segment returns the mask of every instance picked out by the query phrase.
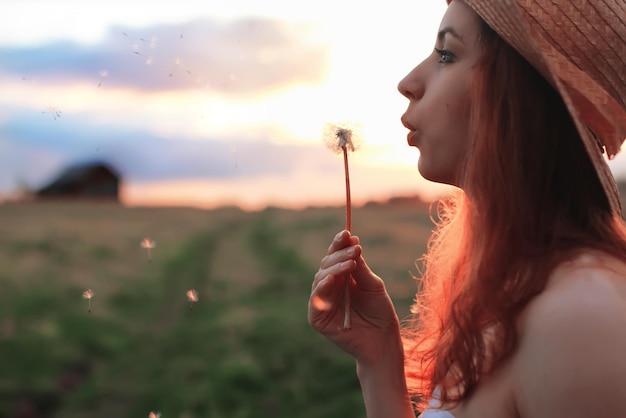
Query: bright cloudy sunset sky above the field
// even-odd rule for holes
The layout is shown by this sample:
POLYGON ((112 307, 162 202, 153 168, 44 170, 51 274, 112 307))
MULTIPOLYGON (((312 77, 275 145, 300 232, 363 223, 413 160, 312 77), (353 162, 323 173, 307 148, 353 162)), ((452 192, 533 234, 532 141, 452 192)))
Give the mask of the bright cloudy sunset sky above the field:
POLYGON ((356 204, 437 197, 448 189, 419 175, 396 86, 444 12, 443 0, 0 0, 0 196, 104 161, 128 205, 341 204, 343 160, 324 132, 347 124, 356 204))

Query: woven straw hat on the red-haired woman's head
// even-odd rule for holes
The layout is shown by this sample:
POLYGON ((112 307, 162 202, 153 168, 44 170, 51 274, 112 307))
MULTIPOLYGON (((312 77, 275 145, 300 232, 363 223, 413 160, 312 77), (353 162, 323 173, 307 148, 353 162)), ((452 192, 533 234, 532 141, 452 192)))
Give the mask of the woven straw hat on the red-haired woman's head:
POLYGON ((626 139, 626 1, 463 1, 559 91, 621 215, 602 154, 613 158, 626 139))

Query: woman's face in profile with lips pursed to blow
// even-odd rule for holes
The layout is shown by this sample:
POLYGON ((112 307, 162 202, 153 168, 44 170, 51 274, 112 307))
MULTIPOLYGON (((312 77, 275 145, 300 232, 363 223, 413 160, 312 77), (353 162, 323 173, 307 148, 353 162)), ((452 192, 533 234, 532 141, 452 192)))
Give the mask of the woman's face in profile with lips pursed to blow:
POLYGON ((482 53, 479 19, 465 3, 452 1, 433 52, 398 85, 409 99, 402 123, 410 131, 409 145, 420 151, 418 169, 438 183, 459 185, 468 143, 470 85, 482 53))

